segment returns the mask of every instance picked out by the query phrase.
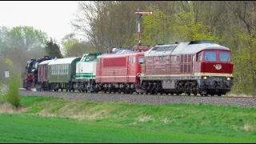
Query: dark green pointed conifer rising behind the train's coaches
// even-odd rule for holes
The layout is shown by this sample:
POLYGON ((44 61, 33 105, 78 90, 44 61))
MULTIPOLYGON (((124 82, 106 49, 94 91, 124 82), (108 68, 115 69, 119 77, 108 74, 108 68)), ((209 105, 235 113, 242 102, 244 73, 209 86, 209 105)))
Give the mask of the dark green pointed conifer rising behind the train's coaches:
POLYGON ((60 46, 58 46, 58 44, 54 42, 52 38, 50 38, 50 41, 46 42, 46 54, 50 58, 63 58, 60 46))

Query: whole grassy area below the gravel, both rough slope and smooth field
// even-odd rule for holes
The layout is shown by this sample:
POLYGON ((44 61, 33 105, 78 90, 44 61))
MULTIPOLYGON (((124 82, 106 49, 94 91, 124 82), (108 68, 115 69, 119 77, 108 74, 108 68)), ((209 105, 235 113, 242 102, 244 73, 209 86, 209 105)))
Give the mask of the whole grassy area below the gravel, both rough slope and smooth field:
POLYGON ((256 108, 22 97, 0 107, 0 142, 256 142, 256 108))

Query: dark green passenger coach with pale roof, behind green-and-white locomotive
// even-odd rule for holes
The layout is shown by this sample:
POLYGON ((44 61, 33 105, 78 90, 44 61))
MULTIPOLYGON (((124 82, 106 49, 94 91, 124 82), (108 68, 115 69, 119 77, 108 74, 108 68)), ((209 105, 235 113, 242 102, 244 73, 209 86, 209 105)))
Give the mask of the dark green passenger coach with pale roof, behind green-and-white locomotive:
POLYGON ((54 59, 48 63, 48 78, 51 90, 66 89, 74 91, 72 78, 75 76, 76 63, 81 58, 60 58, 54 59))

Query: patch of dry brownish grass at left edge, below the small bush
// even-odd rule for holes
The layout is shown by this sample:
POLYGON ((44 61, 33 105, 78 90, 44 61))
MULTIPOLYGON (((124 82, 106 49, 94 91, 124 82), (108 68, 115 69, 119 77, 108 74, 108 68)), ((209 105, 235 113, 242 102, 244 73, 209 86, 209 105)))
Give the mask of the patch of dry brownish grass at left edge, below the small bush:
POLYGON ((25 113, 27 111, 26 107, 18 107, 18 109, 12 108, 9 103, 0 103, 0 114, 14 114, 14 113, 25 113))

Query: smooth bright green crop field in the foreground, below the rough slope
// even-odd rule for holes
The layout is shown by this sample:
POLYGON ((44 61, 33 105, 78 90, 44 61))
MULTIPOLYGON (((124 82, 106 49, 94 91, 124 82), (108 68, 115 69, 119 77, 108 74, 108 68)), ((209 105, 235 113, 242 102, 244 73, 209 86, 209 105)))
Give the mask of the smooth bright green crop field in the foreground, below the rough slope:
POLYGON ((0 142, 255 142, 210 134, 182 134, 98 126, 77 119, 0 114, 0 142))

